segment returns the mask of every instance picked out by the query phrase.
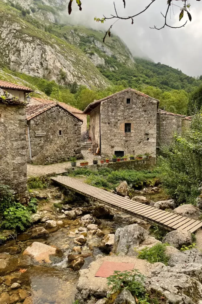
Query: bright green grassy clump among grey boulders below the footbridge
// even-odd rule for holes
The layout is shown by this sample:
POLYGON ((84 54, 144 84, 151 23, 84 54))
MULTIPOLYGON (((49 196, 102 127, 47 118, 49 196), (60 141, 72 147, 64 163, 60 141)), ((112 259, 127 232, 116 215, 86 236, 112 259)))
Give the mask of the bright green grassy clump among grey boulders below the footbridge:
POLYGON ((145 247, 138 253, 138 258, 142 260, 147 260, 150 263, 161 262, 167 265, 169 257, 165 254, 166 245, 158 243, 151 248, 145 247))

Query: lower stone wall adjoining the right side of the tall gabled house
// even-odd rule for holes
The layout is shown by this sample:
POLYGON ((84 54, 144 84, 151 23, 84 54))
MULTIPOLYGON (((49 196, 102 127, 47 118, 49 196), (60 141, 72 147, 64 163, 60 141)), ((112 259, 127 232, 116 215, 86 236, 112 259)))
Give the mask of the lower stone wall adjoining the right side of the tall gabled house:
MULTIPOLYGON (((161 113, 161 136, 160 147, 169 145, 172 142, 173 134, 182 132, 182 118, 177 115, 168 115, 161 113)), ((157 147, 159 147, 159 113, 157 113, 157 147)))

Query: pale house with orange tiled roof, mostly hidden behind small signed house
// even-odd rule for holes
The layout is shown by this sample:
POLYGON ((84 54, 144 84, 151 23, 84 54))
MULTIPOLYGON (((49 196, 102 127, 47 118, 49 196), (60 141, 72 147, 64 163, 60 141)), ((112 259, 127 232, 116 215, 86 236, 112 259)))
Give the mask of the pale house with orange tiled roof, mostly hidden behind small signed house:
MULTIPOLYGON (((37 105, 40 103, 53 103, 52 100, 48 99, 42 99, 42 98, 36 98, 32 97, 31 101, 29 102, 29 105, 37 105)), ((72 107, 71 105, 67 105, 65 102, 58 102, 59 105, 62 105, 65 109, 75 114, 78 118, 80 118, 83 123, 81 125, 81 133, 87 130, 87 115, 84 114, 81 110, 76 109, 72 107)))

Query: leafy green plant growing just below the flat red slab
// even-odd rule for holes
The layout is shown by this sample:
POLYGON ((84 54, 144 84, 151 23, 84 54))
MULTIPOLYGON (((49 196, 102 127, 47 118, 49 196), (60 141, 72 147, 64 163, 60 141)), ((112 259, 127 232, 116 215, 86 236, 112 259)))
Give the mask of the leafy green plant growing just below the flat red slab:
MULTIPOLYGON (((144 299, 146 290, 144 287, 145 276, 142 275, 138 269, 131 271, 114 271, 114 275, 107 278, 108 286, 112 285, 111 292, 129 290, 137 299, 144 299)), ((108 294, 109 296, 109 294, 108 294)))

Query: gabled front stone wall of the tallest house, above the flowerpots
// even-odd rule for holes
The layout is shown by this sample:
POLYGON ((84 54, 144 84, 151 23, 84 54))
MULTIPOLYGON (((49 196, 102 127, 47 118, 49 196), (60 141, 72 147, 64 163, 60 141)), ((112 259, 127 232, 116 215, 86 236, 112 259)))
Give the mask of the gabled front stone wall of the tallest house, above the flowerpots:
POLYGON ((150 153, 156 156, 156 115, 157 100, 122 92, 101 102, 101 154, 150 153), (126 104, 131 98, 131 104, 126 104), (131 123, 131 133, 124 132, 124 124, 131 123))

